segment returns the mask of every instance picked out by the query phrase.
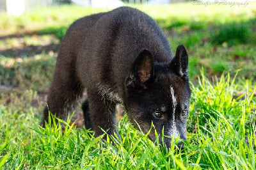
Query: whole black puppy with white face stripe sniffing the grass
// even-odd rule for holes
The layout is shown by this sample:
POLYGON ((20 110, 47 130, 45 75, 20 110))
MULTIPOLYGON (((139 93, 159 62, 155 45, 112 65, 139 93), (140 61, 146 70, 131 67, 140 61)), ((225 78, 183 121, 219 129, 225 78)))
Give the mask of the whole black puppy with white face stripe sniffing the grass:
MULTIPOLYGON (((143 132, 152 122, 158 134, 186 139, 191 90, 188 54, 183 45, 173 58, 157 23, 129 7, 77 20, 61 43, 47 98, 49 110, 65 119, 81 102, 86 128, 95 135, 115 132, 115 105, 125 106, 129 120, 143 132)), ((49 111, 45 107, 44 121, 49 111)), ((154 132, 150 139, 156 139, 154 132)), ((161 138, 161 137, 160 137, 161 138)), ((164 137, 166 146, 170 146, 164 137)))

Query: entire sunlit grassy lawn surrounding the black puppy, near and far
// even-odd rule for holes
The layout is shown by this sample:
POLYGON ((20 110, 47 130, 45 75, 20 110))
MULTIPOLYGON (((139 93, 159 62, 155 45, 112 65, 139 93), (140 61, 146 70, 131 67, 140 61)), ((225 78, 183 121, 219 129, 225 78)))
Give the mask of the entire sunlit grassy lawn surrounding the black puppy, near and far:
POLYGON ((120 138, 108 136, 115 144, 93 137, 83 120, 72 123, 81 111, 63 121, 64 133, 40 127, 65 31, 79 17, 108 11, 53 6, 0 14, 0 169, 256 169, 256 3, 134 7, 159 23, 173 50, 188 49, 184 150, 178 141, 172 148, 150 141, 126 115, 120 138))

